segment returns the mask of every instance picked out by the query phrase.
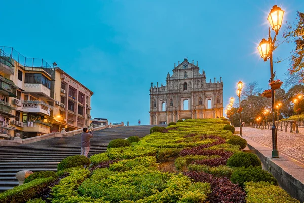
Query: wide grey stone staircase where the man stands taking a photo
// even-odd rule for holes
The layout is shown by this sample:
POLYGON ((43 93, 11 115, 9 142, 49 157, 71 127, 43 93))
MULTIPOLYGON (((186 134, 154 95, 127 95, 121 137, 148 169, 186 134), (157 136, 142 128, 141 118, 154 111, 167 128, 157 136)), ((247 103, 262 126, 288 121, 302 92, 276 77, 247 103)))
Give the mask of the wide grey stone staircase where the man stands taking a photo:
MULTIPOLYGON (((95 131, 88 157, 105 152, 111 140, 130 136, 144 137, 151 125, 123 126, 95 131)), ((0 192, 18 185, 18 171, 57 171, 57 164, 68 156, 80 154, 80 134, 53 138, 20 146, 0 146, 0 192)))

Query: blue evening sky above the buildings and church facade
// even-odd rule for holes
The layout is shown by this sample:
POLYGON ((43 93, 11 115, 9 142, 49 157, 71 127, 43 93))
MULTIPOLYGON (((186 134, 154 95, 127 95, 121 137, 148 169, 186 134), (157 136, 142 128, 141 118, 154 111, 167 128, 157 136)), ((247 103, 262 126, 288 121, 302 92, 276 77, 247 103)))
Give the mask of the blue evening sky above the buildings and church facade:
MULTIPOLYGON (((285 10, 284 22, 304 11, 302 0, 1 1, 0 45, 56 61, 94 92, 92 117, 149 124, 151 82, 165 84, 185 56, 198 61, 207 82, 222 77, 225 106, 239 80, 268 88, 269 61, 257 45, 268 35, 266 18, 276 4, 285 10)), ((279 46, 274 60, 288 57, 293 46, 279 46)), ((277 79, 287 69, 288 60, 274 63, 277 79)))

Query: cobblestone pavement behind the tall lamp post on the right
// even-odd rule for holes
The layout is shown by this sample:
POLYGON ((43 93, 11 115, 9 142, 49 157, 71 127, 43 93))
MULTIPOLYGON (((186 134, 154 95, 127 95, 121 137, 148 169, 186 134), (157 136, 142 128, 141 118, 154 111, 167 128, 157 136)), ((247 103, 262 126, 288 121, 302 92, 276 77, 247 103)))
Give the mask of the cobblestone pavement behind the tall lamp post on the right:
MULTIPOLYGON (((236 128, 236 131, 239 131, 239 128, 236 128)), ((279 153, 283 152, 304 163, 304 128, 299 128, 299 131, 298 134, 289 131, 277 131, 278 150, 279 153)), ((242 135, 272 148, 271 130, 242 127, 242 135)))

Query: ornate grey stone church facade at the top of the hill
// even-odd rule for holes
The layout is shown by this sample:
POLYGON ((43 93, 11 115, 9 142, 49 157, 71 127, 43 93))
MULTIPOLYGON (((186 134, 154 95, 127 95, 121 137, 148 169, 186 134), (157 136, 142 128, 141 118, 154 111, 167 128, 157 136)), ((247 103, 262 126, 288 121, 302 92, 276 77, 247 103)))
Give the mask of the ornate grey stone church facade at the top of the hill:
MULTIPOLYGON (((179 62, 178 62, 179 63, 179 62)), ((150 125, 168 124, 187 118, 217 118, 223 116, 223 81, 206 82, 204 70, 199 73, 187 58, 168 73, 166 85, 150 88, 150 125)))

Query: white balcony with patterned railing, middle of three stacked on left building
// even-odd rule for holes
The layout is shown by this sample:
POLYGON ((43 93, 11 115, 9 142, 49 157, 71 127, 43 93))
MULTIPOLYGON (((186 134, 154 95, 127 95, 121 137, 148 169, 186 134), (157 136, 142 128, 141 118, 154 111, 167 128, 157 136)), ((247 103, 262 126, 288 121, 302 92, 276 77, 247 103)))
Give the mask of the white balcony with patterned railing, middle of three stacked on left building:
POLYGON ((50 116, 50 111, 53 106, 44 103, 43 101, 22 101, 22 111, 37 113, 50 116))

